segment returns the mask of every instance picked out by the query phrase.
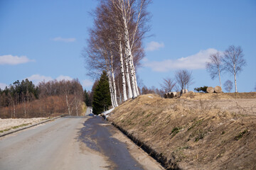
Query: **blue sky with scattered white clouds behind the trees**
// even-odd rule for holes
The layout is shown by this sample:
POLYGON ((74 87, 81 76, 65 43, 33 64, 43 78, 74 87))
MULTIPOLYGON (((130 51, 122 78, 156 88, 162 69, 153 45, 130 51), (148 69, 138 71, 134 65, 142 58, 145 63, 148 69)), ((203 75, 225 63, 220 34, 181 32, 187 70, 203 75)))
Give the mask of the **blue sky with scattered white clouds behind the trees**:
MULTIPOLYGON (((0 88, 16 80, 35 84, 45 79, 78 78, 90 90, 81 56, 96 0, 0 1, 0 88)), ((153 1, 153 35, 144 39, 146 56, 137 70, 139 84, 159 88, 162 79, 174 78, 178 69, 193 72, 193 90, 217 86, 205 62, 213 52, 240 45, 247 66, 238 74, 238 91, 256 86, 256 1, 153 1)), ((221 76, 222 83, 233 77, 221 76)), ((234 90, 234 88, 233 88, 234 90)))

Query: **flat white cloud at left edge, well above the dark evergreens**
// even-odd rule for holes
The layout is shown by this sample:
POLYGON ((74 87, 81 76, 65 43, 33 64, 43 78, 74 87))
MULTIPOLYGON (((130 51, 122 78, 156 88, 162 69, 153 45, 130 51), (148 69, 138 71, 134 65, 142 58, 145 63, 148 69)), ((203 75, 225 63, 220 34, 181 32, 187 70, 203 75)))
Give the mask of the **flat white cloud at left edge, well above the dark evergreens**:
POLYGON ((16 65, 16 64, 23 64, 26 62, 35 62, 35 60, 29 60, 26 56, 13 56, 13 55, 2 55, 0 56, 0 64, 10 64, 10 65, 16 65))

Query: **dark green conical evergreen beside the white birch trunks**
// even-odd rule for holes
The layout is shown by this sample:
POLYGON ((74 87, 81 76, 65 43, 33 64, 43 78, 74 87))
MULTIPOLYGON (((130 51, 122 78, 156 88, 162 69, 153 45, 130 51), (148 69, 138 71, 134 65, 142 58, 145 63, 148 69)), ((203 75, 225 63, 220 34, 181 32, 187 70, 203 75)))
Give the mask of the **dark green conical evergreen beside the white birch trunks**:
POLYGON ((92 111, 98 115, 103 111, 107 111, 111 106, 110 86, 108 83, 107 72, 103 71, 100 77, 99 84, 96 86, 93 93, 92 111))

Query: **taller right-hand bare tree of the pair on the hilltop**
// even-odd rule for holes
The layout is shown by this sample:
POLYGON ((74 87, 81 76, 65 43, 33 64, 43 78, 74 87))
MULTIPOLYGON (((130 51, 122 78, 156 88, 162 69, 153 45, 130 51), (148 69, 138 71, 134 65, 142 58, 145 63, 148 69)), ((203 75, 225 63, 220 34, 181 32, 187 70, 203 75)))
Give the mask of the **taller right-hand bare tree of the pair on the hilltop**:
POLYGON ((235 92, 238 92, 236 76, 242 71, 242 67, 246 65, 244 55, 242 54, 242 48, 240 46, 235 47, 230 45, 224 52, 224 67, 227 72, 233 74, 235 80, 235 92))

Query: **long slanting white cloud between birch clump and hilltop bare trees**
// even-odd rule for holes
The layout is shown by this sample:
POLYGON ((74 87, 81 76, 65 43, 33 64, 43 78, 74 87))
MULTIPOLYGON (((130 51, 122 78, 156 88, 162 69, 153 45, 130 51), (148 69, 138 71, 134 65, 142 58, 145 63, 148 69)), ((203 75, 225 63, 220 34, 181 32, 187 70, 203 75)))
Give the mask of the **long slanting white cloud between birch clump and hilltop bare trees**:
POLYGON ((196 55, 181 57, 177 60, 164 60, 161 62, 144 62, 145 67, 150 67, 156 72, 168 72, 174 69, 205 69, 209 56, 218 52, 213 48, 201 50, 196 55))

